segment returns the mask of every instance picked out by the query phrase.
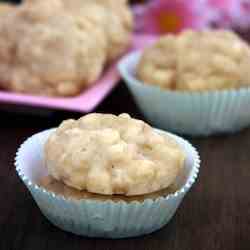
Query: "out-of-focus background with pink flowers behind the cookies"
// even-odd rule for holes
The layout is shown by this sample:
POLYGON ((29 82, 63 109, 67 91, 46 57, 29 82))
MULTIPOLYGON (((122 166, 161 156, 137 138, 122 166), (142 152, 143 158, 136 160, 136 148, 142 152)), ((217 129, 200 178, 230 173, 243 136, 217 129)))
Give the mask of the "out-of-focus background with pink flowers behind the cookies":
MULTIPOLYGON (((20 3, 21 0, 0 0, 20 3)), ((250 0, 130 0, 138 33, 232 29, 249 40, 250 0)))

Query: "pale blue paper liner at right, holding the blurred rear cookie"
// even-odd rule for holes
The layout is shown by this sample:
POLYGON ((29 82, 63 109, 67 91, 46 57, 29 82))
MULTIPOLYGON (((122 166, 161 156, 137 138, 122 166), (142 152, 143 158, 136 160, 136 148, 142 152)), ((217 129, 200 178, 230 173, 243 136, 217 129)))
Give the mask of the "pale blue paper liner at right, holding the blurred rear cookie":
POLYGON ((137 105, 154 126, 205 136, 235 132, 250 125, 250 88, 205 92, 161 89, 135 78, 140 56, 141 52, 133 52, 124 57, 119 71, 137 105))

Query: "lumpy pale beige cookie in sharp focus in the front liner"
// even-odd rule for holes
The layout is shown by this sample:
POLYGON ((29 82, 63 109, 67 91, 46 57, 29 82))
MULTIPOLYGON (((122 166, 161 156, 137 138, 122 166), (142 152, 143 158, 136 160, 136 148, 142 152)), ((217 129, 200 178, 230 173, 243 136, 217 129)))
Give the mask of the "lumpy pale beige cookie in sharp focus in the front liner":
POLYGON ((64 121, 45 145, 49 175, 78 190, 125 196, 169 187, 184 164, 170 137, 127 114, 64 121))

